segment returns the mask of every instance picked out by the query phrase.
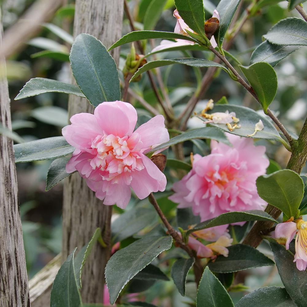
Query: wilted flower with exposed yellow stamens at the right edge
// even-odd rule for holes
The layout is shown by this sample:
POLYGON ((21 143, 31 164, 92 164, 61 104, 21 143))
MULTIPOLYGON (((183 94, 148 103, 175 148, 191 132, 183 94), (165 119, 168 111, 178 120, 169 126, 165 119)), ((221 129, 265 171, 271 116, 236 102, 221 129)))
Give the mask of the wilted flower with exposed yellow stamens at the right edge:
POLYGON ((305 271, 307 266, 307 223, 303 220, 295 222, 284 222, 275 227, 275 239, 278 243, 286 245, 289 249, 289 243, 295 238, 295 255, 293 262, 300 271, 305 271))

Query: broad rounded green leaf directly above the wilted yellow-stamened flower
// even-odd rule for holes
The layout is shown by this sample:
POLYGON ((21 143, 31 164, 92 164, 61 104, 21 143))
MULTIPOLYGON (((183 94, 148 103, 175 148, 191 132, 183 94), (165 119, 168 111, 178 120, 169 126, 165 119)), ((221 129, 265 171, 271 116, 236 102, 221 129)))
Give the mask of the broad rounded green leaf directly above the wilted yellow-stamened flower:
POLYGON ((282 210, 289 218, 295 216, 304 195, 302 178, 290 169, 281 169, 256 180, 259 196, 282 210))

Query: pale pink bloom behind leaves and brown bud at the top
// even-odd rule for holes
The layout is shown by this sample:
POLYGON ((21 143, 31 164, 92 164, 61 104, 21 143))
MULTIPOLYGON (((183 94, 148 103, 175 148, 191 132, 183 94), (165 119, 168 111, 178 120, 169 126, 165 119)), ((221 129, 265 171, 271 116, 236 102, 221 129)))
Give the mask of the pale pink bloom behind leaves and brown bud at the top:
MULTIPOLYGON (((186 32, 186 30, 190 31, 190 32, 194 32, 186 23, 185 21, 181 18, 181 16, 179 15, 177 10, 174 10, 174 17, 177 18, 177 23, 174 29, 174 33, 178 33, 178 34, 182 34, 185 36, 188 36, 188 33, 186 32)), ((220 20, 220 15, 217 12, 217 10, 214 10, 212 17, 216 17, 217 19, 220 20)), ((216 41, 214 36, 211 37, 210 39, 210 43, 212 45, 213 48, 217 47, 216 41)), ((193 41, 187 41, 187 40, 183 40, 183 39, 178 39, 175 43, 169 40, 162 40, 160 45, 158 45, 157 47, 153 48, 151 50, 151 52, 156 52, 156 51, 160 51, 163 49, 167 49, 167 48, 173 48, 173 47, 179 47, 179 46, 185 46, 185 45, 194 45, 195 43, 193 41)))

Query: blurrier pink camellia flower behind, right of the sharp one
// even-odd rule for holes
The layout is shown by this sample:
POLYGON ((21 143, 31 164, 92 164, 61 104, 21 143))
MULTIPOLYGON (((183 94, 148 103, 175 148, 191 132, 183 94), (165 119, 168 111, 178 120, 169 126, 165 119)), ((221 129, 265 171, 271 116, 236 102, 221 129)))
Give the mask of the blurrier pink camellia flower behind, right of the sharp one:
POLYGON ((262 210, 266 202, 257 193, 256 179, 266 173, 266 148, 253 139, 228 134, 233 147, 211 141, 211 154, 194 155, 192 170, 173 185, 169 199, 178 208, 192 207, 201 222, 232 211, 262 210))

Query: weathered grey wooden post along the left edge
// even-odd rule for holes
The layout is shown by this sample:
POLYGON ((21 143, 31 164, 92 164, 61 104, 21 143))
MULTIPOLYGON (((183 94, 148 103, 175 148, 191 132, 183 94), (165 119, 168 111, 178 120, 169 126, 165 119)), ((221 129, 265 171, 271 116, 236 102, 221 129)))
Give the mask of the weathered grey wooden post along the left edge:
MULTIPOLYGON (((3 27, 0 8, 0 49, 3 27)), ((9 89, 0 58, 0 121, 11 129, 9 89)), ((25 250, 18 209, 13 141, 0 135, 0 306, 30 307, 25 250)))

